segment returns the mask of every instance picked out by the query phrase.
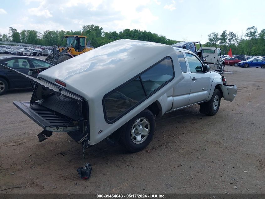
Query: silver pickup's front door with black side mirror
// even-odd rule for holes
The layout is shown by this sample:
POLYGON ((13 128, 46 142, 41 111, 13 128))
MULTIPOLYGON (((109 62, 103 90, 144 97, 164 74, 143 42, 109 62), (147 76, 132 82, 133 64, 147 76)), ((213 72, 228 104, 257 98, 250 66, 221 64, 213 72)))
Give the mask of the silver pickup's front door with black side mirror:
POLYGON ((203 72, 203 63, 195 55, 186 52, 191 77, 190 100, 188 104, 205 101, 210 92, 209 72, 203 72))

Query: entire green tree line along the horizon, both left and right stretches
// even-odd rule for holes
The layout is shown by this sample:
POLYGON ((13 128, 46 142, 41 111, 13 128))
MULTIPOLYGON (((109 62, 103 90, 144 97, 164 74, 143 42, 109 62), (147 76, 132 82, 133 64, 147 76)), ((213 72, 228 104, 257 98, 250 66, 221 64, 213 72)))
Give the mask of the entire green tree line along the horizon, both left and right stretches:
MULTIPOLYGON (((18 43, 37 44, 43 46, 60 45, 66 46, 66 40, 62 41, 65 35, 84 35, 91 41, 93 47, 99 47, 118 39, 135 39, 141 41, 152 41, 172 45, 178 41, 167 39, 166 36, 151 33, 150 31, 124 29, 119 33, 116 31, 105 32, 98 25, 83 25, 82 30, 46 30, 43 33, 36 30, 21 30, 9 27, 9 34, 0 33, 0 41, 13 41, 18 43)), ((236 34, 224 30, 219 33, 212 32, 203 47, 220 47, 225 54, 232 49, 233 54, 265 55, 265 29, 259 33, 255 26, 248 27, 246 33, 236 34)))

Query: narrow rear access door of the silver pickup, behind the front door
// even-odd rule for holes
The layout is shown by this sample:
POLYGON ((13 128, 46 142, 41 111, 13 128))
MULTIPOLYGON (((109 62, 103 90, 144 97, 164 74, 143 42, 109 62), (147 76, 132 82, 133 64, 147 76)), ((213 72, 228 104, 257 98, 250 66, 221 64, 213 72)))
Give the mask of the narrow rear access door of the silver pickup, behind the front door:
POLYGON ((178 56, 178 61, 182 70, 182 74, 185 77, 184 80, 179 82, 176 86, 173 87, 173 107, 172 109, 184 107, 188 105, 189 94, 191 87, 190 74, 187 69, 187 64, 185 57, 181 51, 176 51, 178 56))

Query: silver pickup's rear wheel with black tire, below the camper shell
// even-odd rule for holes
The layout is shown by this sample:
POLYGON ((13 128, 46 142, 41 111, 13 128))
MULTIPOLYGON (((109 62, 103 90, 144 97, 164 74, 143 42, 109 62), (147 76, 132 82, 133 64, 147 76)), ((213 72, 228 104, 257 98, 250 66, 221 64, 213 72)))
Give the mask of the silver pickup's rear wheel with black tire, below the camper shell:
POLYGON ((155 126, 156 121, 153 113, 145 109, 125 124, 121 142, 129 152, 141 151, 150 143, 155 126))

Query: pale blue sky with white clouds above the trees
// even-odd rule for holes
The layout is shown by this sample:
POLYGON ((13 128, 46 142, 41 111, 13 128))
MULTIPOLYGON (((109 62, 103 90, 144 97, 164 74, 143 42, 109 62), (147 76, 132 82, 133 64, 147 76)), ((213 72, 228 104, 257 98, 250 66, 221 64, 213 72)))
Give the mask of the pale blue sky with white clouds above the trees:
POLYGON ((151 31, 177 41, 205 43, 211 32, 244 34, 265 28, 264 0, 1 0, 0 33, 82 30, 99 25, 105 32, 126 28, 151 31))

